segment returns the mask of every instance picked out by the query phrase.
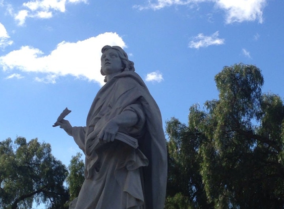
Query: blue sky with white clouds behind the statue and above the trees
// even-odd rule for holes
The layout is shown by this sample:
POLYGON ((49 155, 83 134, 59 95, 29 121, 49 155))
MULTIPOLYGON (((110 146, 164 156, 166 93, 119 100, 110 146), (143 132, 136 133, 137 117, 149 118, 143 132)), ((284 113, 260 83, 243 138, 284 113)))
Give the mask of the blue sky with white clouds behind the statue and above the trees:
POLYGON ((52 125, 84 126, 102 85, 101 48, 134 61, 163 121, 218 99, 224 66, 254 64, 284 96, 283 0, 0 0, 0 141, 38 138, 68 165, 79 152, 52 125))

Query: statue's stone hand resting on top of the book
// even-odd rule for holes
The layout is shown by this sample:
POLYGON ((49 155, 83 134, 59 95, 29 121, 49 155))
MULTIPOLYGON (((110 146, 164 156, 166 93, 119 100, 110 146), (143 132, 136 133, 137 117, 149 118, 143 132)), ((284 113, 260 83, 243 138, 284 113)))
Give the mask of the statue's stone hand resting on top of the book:
POLYGON ((113 142, 115 134, 118 132, 118 128, 118 124, 114 120, 110 120, 99 134, 100 142, 113 142))

